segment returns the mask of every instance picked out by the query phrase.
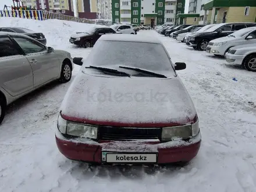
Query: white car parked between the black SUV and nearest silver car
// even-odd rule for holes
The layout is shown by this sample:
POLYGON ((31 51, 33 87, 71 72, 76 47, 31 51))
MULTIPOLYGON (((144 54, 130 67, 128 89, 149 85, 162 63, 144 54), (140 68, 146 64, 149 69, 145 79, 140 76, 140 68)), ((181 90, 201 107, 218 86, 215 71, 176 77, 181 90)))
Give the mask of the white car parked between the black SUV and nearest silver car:
POLYGON ((206 52, 223 56, 231 47, 253 43, 256 43, 256 27, 248 27, 210 41, 206 52))

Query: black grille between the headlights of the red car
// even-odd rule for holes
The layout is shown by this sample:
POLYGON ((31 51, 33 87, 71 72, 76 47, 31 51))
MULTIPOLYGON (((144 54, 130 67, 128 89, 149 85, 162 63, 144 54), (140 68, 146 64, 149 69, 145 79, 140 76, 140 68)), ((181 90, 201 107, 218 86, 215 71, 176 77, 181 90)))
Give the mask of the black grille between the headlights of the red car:
POLYGON ((99 126, 99 140, 160 139, 161 133, 161 128, 99 126))

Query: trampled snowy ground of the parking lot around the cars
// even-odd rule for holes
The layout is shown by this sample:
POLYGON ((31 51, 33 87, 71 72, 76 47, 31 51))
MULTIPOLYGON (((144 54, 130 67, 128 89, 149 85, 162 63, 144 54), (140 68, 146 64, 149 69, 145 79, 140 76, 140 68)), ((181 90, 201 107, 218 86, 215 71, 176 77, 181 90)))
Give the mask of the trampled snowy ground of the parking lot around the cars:
MULTIPOLYGON (((72 56, 86 57, 91 50, 68 42, 70 34, 87 24, 1 18, 0 23, 42 31, 48 46, 72 56)), ((54 132, 70 83, 52 83, 8 108, 0 126, 0 191, 256 191, 256 108, 248 103, 256 104, 255 73, 155 31, 138 35, 159 38, 173 62, 187 63, 178 73, 197 108, 202 133, 200 152, 190 165, 88 168, 66 159, 56 147, 54 132)), ((78 70, 77 66, 73 78, 78 70)))

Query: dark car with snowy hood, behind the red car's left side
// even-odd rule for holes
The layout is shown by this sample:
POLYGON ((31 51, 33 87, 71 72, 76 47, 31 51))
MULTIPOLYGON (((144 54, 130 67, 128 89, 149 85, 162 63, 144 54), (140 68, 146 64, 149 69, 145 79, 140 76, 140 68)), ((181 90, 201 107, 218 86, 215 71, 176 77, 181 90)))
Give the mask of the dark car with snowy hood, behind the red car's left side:
POLYGON ((88 31, 77 32, 76 34, 71 35, 69 42, 74 45, 79 45, 81 47, 93 47, 95 42, 104 34, 120 34, 113 30, 111 27, 93 27, 88 31))

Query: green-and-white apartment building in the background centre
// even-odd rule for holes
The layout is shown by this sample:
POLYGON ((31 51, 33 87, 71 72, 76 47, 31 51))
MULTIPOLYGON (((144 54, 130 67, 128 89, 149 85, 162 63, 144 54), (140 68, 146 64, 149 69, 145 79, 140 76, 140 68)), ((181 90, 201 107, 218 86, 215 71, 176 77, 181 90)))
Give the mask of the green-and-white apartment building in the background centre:
POLYGON ((172 24, 184 8, 185 0, 112 0, 112 23, 172 24))

